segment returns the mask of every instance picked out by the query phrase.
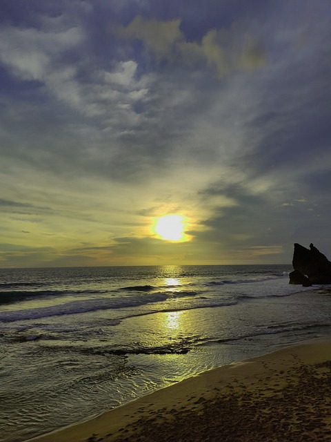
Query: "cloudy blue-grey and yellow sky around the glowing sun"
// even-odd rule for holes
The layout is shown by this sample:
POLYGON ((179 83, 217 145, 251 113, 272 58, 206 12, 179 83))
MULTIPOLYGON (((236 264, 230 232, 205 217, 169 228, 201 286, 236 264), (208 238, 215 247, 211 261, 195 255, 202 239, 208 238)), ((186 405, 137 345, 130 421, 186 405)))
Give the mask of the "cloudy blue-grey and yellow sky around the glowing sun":
POLYGON ((330 0, 1 0, 0 267, 331 259, 330 19, 330 0))

